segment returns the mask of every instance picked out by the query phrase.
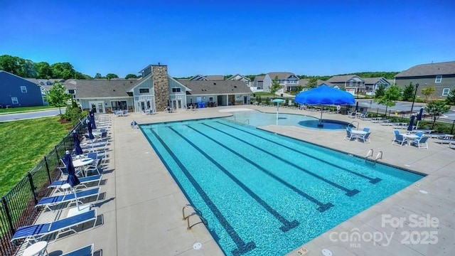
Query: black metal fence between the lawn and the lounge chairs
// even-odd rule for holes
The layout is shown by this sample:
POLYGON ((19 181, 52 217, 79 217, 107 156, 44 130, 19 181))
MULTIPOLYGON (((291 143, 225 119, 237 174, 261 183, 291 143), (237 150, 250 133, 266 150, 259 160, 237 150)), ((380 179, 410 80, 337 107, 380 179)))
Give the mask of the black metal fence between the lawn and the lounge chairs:
MULTIPOLYGON (((85 121, 85 119, 84 119, 85 121)), ((85 122, 75 127, 78 134, 85 132, 85 122)), ((0 255, 14 255, 16 244, 10 242, 17 228, 31 225, 39 214, 35 208, 39 199, 49 196, 49 184, 59 178, 59 159, 66 150, 73 149, 73 130, 54 147, 39 163, 23 176, 21 181, 1 197, 0 203, 0 255)))

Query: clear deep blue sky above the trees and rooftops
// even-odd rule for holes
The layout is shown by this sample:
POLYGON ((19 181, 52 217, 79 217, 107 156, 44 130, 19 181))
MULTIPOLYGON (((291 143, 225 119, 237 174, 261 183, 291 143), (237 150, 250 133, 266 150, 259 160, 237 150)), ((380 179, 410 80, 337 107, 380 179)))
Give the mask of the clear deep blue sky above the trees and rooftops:
POLYGON ((119 77, 338 75, 455 60, 455 1, 2 1, 0 55, 119 77))

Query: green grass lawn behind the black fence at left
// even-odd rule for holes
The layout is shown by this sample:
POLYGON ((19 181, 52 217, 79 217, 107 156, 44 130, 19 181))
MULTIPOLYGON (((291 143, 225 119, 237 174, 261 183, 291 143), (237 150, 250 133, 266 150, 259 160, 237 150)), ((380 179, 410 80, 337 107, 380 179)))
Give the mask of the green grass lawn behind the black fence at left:
POLYGON ((72 124, 59 120, 45 117, 0 123, 1 196, 70 132, 72 124))

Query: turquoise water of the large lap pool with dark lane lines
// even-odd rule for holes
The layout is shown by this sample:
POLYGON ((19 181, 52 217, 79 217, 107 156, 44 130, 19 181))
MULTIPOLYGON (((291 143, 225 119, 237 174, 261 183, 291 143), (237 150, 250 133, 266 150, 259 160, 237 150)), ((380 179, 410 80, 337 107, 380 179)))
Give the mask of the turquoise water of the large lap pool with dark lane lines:
POLYGON ((284 255, 422 178, 226 119, 141 130, 226 255, 284 255))

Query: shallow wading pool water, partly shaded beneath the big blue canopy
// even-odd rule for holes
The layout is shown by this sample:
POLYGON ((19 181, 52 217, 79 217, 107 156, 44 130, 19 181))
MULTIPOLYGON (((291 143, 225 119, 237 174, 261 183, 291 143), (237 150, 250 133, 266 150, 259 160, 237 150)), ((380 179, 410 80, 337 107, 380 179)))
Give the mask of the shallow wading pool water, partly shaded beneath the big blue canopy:
POLYGON ((319 119, 303 114, 285 114, 285 113, 262 113, 254 110, 232 112, 232 117, 227 119, 242 124, 250 124, 254 127, 278 124, 282 126, 296 126, 310 129, 346 129, 348 122, 342 122, 331 119, 323 119, 323 127, 319 127, 319 119), (277 119, 278 116, 278 119, 277 119))

